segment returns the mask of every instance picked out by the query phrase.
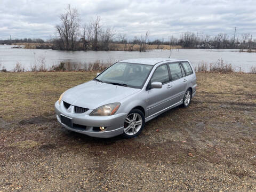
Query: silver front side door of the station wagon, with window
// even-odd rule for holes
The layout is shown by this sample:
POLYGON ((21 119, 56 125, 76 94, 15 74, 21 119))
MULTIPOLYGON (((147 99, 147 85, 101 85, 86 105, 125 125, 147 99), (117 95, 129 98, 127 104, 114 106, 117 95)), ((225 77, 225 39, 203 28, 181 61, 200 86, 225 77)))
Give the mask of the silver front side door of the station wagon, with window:
POLYGON ((149 82, 149 101, 148 101, 148 115, 153 115, 158 111, 169 106, 170 94, 170 76, 166 64, 156 68, 149 82), (151 82, 161 82, 163 84, 161 89, 150 89, 151 82))

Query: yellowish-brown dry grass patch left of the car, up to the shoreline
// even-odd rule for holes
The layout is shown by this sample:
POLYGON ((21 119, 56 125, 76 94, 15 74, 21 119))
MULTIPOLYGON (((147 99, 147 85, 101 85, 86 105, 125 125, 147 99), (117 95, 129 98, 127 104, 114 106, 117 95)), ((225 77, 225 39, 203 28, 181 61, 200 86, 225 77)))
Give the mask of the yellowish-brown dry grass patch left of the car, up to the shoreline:
POLYGON ((16 117, 17 120, 26 116, 51 114, 53 103, 58 100, 60 92, 89 81, 94 76, 95 72, 15 73, 15 75, 3 73, 0 76, 0 114, 5 119, 16 117))

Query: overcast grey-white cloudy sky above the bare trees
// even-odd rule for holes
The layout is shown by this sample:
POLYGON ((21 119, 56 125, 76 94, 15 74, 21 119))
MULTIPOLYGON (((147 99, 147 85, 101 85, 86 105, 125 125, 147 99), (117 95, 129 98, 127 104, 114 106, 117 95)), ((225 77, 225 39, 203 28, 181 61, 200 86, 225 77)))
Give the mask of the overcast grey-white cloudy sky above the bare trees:
POLYGON ((103 26, 133 38, 149 31, 150 39, 179 37, 186 31, 238 35, 256 38, 255 0, 0 0, 0 39, 43 38, 55 34, 59 13, 70 4, 82 23, 99 14, 103 26))

